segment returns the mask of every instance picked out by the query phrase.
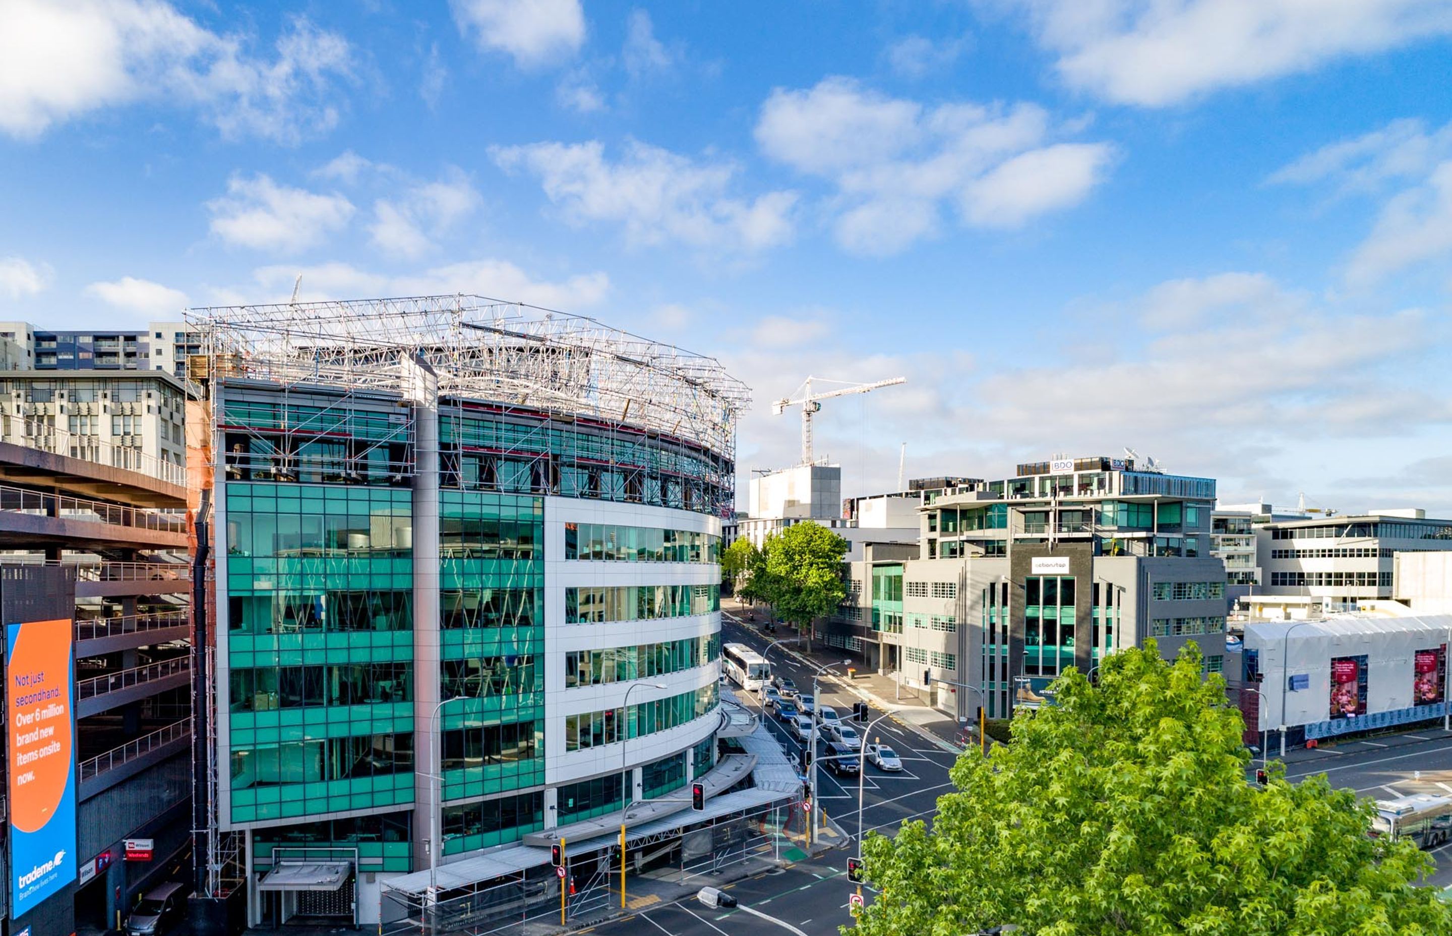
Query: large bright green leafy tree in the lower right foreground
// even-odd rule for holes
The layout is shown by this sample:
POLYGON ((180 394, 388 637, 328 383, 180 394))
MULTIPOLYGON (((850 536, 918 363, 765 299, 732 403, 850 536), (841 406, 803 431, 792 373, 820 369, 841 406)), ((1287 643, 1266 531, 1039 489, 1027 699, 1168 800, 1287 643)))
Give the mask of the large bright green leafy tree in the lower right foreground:
POLYGON ((858 935, 1452 933, 1452 907, 1414 885, 1430 859, 1369 837, 1355 794, 1279 769, 1246 782, 1240 712, 1194 645, 1170 664, 1147 641, 1099 673, 1090 687, 1070 670, 1009 747, 964 754, 932 831, 867 840, 880 894, 858 935))

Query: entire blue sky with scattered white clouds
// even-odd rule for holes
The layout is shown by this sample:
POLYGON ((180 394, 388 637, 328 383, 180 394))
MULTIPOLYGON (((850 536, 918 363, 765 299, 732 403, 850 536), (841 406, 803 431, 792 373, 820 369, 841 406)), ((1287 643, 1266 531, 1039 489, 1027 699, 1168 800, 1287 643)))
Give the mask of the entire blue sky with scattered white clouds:
POLYGON ((0 318, 479 292, 807 374, 849 493, 1452 513, 1449 0, 0 0, 0 318))

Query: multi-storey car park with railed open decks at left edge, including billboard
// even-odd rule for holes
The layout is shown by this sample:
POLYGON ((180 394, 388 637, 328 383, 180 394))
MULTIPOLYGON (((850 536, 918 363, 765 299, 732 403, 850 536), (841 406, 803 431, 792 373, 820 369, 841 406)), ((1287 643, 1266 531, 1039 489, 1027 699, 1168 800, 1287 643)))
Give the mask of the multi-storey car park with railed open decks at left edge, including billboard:
POLYGON ((39 413, 3 400, 7 932, 105 930, 190 844, 184 472, 12 432, 39 413))

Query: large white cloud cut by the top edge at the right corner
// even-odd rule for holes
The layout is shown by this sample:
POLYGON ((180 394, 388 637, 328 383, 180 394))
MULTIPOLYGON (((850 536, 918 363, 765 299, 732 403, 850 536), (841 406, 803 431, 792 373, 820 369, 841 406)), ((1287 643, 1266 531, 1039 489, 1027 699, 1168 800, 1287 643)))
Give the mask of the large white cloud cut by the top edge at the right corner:
POLYGON ((1446 0, 1000 0, 1072 87, 1147 108, 1452 32, 1446 0))

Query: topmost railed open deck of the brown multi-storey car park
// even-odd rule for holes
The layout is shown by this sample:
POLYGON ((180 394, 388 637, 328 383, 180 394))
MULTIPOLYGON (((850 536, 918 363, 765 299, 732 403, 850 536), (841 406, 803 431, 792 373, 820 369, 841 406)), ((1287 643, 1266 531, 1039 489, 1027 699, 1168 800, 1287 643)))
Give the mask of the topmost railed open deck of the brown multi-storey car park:
POLYGON ((0 485, 0 545, 187 548, 186 516, 0 485))

